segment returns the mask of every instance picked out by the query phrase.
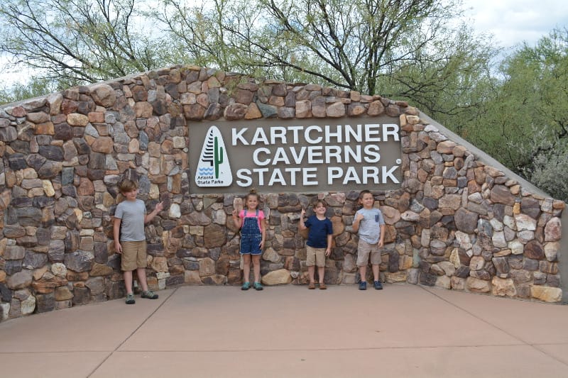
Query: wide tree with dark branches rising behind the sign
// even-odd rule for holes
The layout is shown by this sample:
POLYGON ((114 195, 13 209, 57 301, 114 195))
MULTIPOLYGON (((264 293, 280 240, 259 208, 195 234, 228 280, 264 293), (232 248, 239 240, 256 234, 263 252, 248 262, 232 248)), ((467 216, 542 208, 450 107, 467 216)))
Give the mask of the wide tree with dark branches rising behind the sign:
POLYGON ((472 106, 436 105, 466 93, 470 80, 487 74, 496 52, 455 23, 459 0, 162 4, 155 17, 178 43, 174 50, 197 64, 408 99, 426 111, 472 106))

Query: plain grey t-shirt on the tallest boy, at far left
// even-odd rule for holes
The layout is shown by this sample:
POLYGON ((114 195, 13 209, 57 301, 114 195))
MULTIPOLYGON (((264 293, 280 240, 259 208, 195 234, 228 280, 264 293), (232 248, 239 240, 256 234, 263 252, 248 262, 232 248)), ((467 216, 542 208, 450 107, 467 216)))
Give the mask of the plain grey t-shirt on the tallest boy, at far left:
POLYGON ((144 234, 144 216, 146 205, 140 199, 122 201, 116 206, 114 216, 121 219, 120 241, 139 242, 146 240, 144 234))

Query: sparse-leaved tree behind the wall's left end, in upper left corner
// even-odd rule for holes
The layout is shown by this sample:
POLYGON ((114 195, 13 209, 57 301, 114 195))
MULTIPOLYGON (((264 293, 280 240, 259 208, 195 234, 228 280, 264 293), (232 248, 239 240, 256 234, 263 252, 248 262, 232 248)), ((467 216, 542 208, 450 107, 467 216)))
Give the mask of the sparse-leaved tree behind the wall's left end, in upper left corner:
POLYGON ((69 86, 167 65, 141 17, 135 0, 4 0, 0 52, 69 86))

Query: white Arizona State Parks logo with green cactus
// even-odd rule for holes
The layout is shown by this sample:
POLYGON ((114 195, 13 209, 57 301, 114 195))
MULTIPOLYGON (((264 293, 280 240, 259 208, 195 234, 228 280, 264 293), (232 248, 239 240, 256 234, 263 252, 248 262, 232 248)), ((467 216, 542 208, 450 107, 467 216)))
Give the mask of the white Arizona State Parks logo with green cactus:
POLYGON ((217 126, 211 126, 203 141, 195 184, 198 187, 229 187, 232 183, 233 174, 223 136, 217 126))

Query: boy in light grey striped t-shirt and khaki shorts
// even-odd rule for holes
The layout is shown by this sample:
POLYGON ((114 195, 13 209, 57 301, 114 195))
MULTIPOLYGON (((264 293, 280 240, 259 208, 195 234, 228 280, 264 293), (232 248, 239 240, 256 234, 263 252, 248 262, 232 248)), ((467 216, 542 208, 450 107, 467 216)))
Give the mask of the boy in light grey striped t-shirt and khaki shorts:
POLYGON ((359 193, 359 204, 363 207, 355 213, 353 221, 353 232, 359 233, 359 244, 357 245, 357 266, 359 267, 359 290, 367 289, 367 265, 371 257, 371 267, 373 268, 373 287, 377 290, 383 289, 379 281, 378 265, 381 264, 381 248, 385 240, 385 221, 381 210, 375 209, 375 199, 371 191, 363 190, 359 193))

